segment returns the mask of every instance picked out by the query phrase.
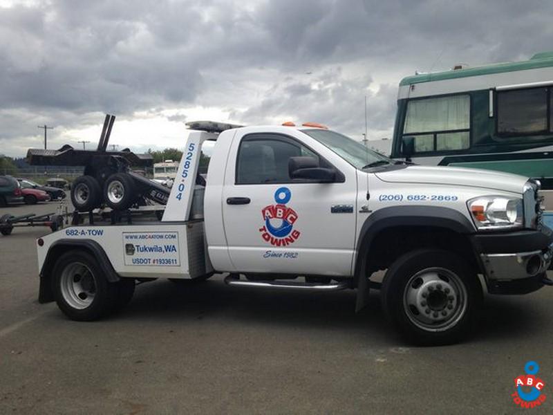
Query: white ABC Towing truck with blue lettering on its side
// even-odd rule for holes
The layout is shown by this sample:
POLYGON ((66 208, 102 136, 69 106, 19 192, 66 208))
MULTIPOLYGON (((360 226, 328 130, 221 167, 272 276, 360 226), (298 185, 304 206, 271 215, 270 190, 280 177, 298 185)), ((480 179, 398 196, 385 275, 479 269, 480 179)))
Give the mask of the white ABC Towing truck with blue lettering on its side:
POLYGON ((443 344, 474 329, 483 293, 552 284, 536 181, 394 161, 320 124, 205 125, 189 134, 161 221, 90 214, 37 240, 40 302, 96 320, 135 282, 225 273, 229 286, 356 288, 359 309, 374 287, 408 340, 443 344))

